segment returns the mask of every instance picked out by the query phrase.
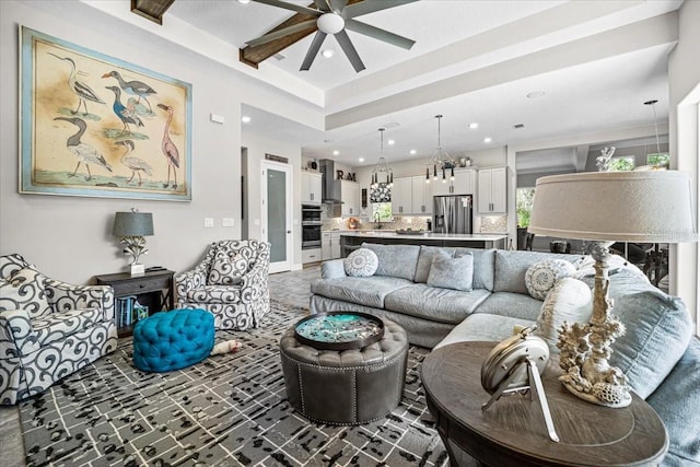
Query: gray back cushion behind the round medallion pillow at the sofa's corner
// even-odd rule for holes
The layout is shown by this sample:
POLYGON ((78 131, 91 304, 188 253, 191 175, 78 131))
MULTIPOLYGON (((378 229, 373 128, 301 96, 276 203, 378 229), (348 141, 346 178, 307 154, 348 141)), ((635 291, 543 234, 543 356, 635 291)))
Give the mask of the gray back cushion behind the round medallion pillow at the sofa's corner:
POLYGON ((526 294, 525 273, 527 272, 527 268, 537 261, 558 258, 572 262, 580 257, 576 255, 560 255, 556 253, 508 252, 497 249, 493 291, 526 294))

